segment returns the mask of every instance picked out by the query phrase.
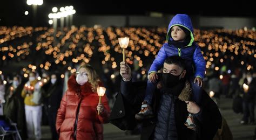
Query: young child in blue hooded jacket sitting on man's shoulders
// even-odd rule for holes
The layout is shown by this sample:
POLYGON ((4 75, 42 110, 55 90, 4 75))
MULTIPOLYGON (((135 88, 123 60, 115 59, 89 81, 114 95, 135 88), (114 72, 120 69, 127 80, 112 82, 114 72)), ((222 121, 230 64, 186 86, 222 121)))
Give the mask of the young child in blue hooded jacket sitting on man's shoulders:
MULTIPOLYGON (((156 90, 156 87, 173 90, 172 85, 177 84, 173 83, 168 87, 161 86, 163 85, 161 84, 163 76, 159 76, 159 74, 157 74, 157 71, 163 67, 165 59, 175 55, 185 59, 187 78, 190 80, 190 85, 192 87, 192 101, 196 102, 200 106, 202 92, 201 87, 203 86, 206 62, 203 58, 200 47, 194 43, 193 26, 188 15, 177 14, 172 18, 168 27, 166 40, 167 43, 160 48, 156 59, 154 59, 153 64, 150 67, 148 75, 149 80, 147 81, 146 94, 142 103, 142 109, 135 115, 137 120, 143 120, 154 116, 151 104, 152 95, 156 90)), ((174 71, 165 72, 165 69, 163 71, 164 73, 170 73, 171 76, 177 75, 174 71)), ((174 82, 174 80, 172 81, 174 82)), ((190 125, 190 118, 192 117, 193 114, 190 114, 185 125, 190 125)), ((189 127, 194 129, 194 127, 189 127)))

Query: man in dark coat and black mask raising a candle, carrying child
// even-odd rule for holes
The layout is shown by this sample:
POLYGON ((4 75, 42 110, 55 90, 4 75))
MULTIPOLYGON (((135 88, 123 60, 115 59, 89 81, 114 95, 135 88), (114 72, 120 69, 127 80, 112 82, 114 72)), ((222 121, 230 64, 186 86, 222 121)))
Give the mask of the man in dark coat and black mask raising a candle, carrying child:
MULTIPOLYGON (((164 64, 164 73, 160 75, 163 85, 159 86, 160 90, 157 89, 153 96, 156 117, 143 120, 141 139, 212 139, 218 128, 221 128, 222 117, 217 105, 206 92, 202 94, 201 107, 190 102, 190 84, 183 79, 186 72, 183 65, 180 65, 180 61, 183 60, 179 57, 167 59, 169 60, 164 64), (169 80, 175 79, 171 78, 172 75, 168 75, 169 73, 173 77, 178 75, 177 84, 172 87, 167 87, 169 80), (195 116, 193 121, 197 126, 196 130, 184 124, 188 113, 195 116)), ((120 74, 123 77, 121 92, 117 95, 110 122, 122 130, 131 130, 139 122, 129 116, 133 116, 140 109, 146 83, 133 83, 130 67, 124 62, 121 62, 120 67, 120 74)))

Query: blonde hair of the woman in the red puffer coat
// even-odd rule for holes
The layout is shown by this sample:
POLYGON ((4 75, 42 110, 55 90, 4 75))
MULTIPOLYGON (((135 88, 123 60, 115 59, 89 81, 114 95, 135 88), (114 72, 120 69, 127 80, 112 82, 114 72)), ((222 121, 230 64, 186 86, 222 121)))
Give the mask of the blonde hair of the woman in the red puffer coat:
POLYGON ((95 69, 94 69, 91 65, 89 65, 89 64, 81 65, 81 66, 78 68, 78 71, 79 71, 81 68, 85 68, 85 69, 86 69, 87 74, 88 74, 88 82, 90 82, 91 85, 92 85, 92 91, 93 91, 93 92, 97 92, 97 87, 98 87, 98 84, 99 84, 99 82, 100 82, 99 76, 98 76, 97 72, 96 72, 95 69))

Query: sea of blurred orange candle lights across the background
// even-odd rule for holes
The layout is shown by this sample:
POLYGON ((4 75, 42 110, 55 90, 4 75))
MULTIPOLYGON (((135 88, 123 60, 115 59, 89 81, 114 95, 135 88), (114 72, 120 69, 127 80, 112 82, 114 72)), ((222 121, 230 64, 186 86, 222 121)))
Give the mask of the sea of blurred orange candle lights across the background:
MULTIPOLYGON (((122 61, 122 48, 118 43, 119 37, 129 37, 129 46, 126 48, 128 64, 133 60, 138 61, 141 73, 146 74, 146 69, 151 65, 160 47, 166 43, 167 29, 163 27, 71 27, 58 31, 53 37, 53 29, 47 27, 0 27, 0 52, 3 61, 8 59, 23 60, 30 55, 31 50, 37 51, 38 56, 44 56, 41 64, 29 64, 24 66, 23 72, 35 71, 43 68, 48 71, 52 65, 66 66, 71 73, 76 72, 72 64, 80 62, 89 63, 93 57, 99 57, 100 62, 111 64, 117 68, 122 61), (34 32, 42 31, 36 36, 36 44, 32 41, 24 41, 22 44, 14 43, 22 37, 35 36, 34 32), (8 45, 7 45, 8 44, 8 45), (94 54, 98 51, 97 55, 94 54)), ((255 62, 255 31, 248 29, 240 30, 194 30, 194 39, 201 47, 206 68, 219 71, 221 64, 226 60, 243 65, 248 71, 253 69, 255 62), (214 65, 213 65, 214 64, 214 65)), ((28 60, 26 60, 28 61, 28 60)), ((28 76, 25 75, 24 76, 28 76)), ((63 76, 64 77, 64 76, 63 76)))

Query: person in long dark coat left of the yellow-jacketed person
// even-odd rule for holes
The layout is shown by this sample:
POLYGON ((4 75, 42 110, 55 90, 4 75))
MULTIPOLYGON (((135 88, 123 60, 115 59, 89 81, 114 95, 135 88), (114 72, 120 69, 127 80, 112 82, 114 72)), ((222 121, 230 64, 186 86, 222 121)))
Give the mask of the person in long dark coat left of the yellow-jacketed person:
POLYGON ((3 104, 3 114, 17 124, 22 139, 26 139, 25 107, 21 92, 24 86, 18 76, 14 76, 12 84, 8 87, 3 104))

